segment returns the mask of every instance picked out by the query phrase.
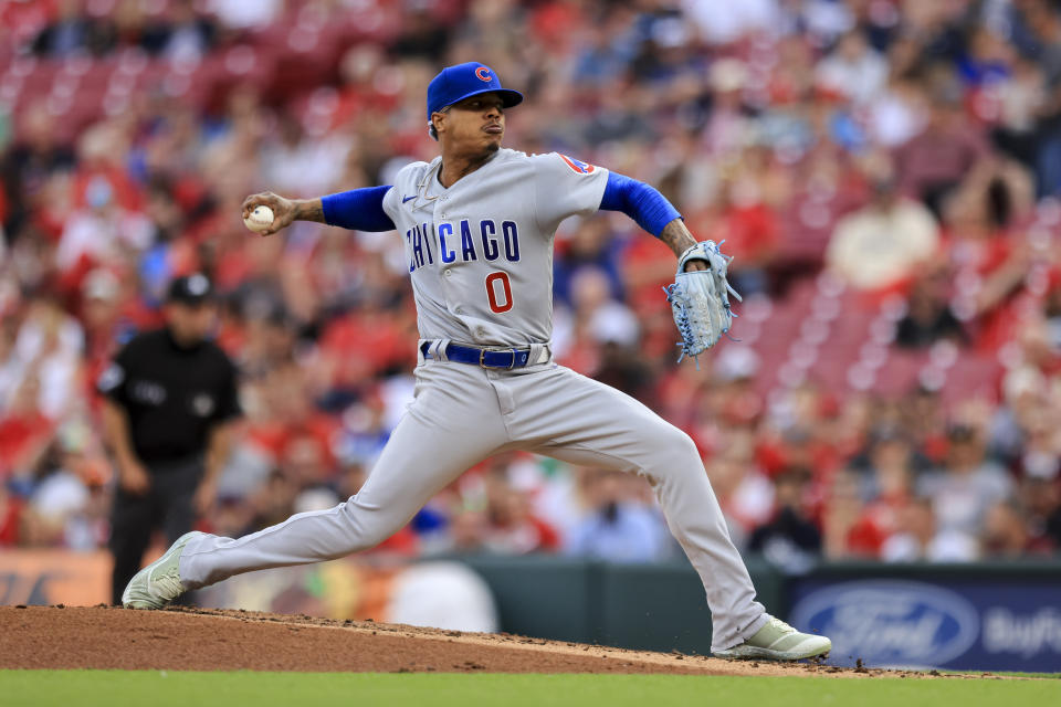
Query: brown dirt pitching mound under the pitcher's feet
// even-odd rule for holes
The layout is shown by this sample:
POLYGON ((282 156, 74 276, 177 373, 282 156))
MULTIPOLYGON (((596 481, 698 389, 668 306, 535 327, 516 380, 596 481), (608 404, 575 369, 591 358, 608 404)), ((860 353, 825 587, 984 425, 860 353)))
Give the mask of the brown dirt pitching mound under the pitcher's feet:
POLYGON ((895 675, 514 635, 174 608, 0 606, 0 668, 895 675))

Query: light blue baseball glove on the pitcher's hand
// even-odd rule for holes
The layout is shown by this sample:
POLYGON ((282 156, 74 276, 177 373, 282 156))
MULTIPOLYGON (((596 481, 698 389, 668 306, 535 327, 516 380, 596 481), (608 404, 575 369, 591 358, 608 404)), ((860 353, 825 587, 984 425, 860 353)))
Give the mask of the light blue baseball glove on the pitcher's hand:
MULTIPOLYGON (((671 303, 674 324, 682 335, 677 344, 682 347, 679 362, 686 356, 696 358, 717 344, 737 316, 729 309, 729 295, 738 300, 740 295, 726 282, 726 268, 733 256, 723 254, 719 245, 714 241, 701 241, 682 253, 677 258, 674 284, 663 288, 671 303), (707 270, 686 273, 685 264, 693 260, 707 263, 707 270)), ((696 366, 700 367, 700 359, 696 366)))

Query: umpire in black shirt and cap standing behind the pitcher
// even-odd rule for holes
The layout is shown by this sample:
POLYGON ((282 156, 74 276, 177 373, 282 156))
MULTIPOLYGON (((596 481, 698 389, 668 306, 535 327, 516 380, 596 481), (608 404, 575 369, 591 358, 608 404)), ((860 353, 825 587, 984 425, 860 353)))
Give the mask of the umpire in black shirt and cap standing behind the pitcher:
POLYGON ((129 341, 97 382, 104 436, 118 467, 111 518, 115 604, 155 528, 174 542, 210 507, 240 413, 235 367, 207 340, 216 317, 210 281, 174 279, 164 312, 166 326, 129 341))

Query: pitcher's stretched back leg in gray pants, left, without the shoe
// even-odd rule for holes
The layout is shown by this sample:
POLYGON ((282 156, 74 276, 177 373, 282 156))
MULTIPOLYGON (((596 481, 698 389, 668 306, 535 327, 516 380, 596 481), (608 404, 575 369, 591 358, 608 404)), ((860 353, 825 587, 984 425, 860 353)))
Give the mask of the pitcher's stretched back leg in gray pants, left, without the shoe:
POLYGON ((180 557, 185 588, 340 558, 398 531, 431 496, 507 441, 487 386, 455 391, 455 382, 440 384, 444 387, 418 395, 357 495, 242 538, 208 535, 190 541, 180 557))

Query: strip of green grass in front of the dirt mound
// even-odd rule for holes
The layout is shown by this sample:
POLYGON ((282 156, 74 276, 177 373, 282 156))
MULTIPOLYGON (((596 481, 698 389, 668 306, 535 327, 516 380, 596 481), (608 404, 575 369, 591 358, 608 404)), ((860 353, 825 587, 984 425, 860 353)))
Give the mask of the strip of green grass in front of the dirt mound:
POLYGON ((0 705, 94 707, 307 707, 309 705, 721 705, 915 707, 1061 704, 1058 680, 683 675, 379 675, 365 673, 175 673, 0 671, 0 705))

